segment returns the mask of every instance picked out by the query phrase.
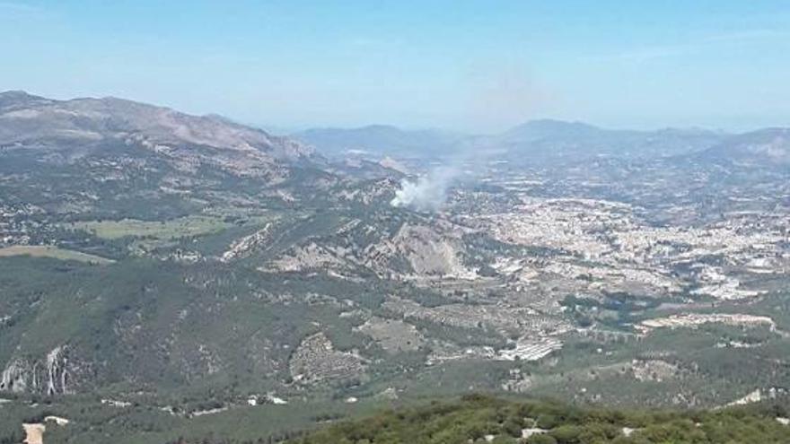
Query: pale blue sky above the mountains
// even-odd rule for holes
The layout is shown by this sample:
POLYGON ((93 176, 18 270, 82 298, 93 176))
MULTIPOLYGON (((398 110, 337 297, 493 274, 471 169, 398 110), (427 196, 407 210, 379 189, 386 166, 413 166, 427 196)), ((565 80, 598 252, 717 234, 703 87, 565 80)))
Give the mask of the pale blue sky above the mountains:
POLYGON ((0 90, 261 126, 790 126, 790 2, 0 0, 0 90))

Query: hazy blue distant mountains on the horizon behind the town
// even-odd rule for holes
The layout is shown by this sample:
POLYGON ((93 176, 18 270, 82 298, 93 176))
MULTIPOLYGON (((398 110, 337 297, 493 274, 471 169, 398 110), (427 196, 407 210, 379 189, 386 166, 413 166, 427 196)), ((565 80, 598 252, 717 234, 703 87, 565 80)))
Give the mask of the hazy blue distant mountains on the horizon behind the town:
POLYGON ((719 161, 784 162, 786 129, 730 135, 699 128, 654 131, 606 129, 582 122, 532 120, 497 135, 463 135, 437 129, 410 131, 395 126, 310 129, 292 135, 329 157, 348 153, 373 157, 452 157, 460 152, 491 152, 512 161, 563 162, 585 158, 667 158, 699 153, 719 161), (705 154, 702 154, 705 153, 705 154))

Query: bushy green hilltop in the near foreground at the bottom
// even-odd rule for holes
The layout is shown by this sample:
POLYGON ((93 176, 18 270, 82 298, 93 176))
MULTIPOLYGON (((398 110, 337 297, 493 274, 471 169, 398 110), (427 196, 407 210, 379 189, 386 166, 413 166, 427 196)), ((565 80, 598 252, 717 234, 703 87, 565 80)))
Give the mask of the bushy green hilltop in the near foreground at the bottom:
POLYGON ((338 422, 294 444, 751 444, 790 442, 785 407, 639 411, 464 396, 338 422))

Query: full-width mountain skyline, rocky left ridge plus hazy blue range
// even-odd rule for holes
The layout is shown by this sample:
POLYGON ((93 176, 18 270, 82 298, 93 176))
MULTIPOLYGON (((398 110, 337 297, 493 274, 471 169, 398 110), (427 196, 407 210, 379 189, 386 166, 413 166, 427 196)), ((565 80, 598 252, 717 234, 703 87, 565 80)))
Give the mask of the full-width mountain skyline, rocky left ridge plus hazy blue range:
MULTIPOLYGON (((315 128, 288 137, 220 116, 190 116, 173 109, 116 98, 51 100, 24 91, 0 93, 0 149, 36 148, 48 161, 125 150, 154 154, 171 168, 200 168, 276 183, 300 166, 323 169, 330 159, 446 159, 474 153, 516 163, 561 164, 613 157, 670 158, 741 164, 790 163, 790 130, 767 128, 741 135, 705 129, 615 130, 582 122, 532 120, 497 135, 465 135, 396 126, 315 128)), ((147 155, 146 154, 146 155, 147 155)), ((372 164, 373 165, 373 164, 372 164)))

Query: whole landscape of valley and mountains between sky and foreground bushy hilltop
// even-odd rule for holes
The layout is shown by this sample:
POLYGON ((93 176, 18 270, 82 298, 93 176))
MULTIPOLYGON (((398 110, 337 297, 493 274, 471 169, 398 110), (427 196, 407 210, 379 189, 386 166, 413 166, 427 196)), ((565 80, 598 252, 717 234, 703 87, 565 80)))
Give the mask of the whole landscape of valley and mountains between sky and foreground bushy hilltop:
POLYGON ((0 94, 0 442, 54 415, 48 444, 273 441, 478 392, 786 400, 786 132, 579 125, 384 159, 0 94), (396 200, 418 178, 438 201, 396 200))

